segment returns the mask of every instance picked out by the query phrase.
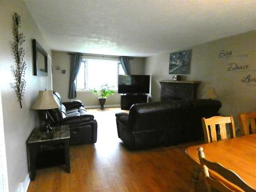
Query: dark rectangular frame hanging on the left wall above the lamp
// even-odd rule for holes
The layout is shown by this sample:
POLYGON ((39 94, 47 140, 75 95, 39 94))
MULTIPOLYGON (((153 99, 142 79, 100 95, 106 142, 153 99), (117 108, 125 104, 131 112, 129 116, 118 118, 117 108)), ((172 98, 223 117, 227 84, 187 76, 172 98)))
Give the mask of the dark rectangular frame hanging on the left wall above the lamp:
POLYGON ((35 76, 47 76, 48 75, 48 54, 47 52, 40 46, 40 44, 36 41, 36 39, 32 40, 33 47, 33 75, 35 76), (38 56, 44 57, 44 60, 41 62, 38 60, 38 56), (40 69, 41 67, 41 69, 40 69))

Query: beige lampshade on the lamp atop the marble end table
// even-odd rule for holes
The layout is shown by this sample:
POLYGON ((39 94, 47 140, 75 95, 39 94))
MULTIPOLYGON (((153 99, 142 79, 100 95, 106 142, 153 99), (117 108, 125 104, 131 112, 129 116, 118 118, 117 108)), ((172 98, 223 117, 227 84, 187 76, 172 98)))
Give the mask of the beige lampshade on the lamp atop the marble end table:
POLYGON ((55 108, 59 108, 59 104, 55 101, 52 90, 39 91, 38 96, 32 105, 32 109, 49 110, 55 108))

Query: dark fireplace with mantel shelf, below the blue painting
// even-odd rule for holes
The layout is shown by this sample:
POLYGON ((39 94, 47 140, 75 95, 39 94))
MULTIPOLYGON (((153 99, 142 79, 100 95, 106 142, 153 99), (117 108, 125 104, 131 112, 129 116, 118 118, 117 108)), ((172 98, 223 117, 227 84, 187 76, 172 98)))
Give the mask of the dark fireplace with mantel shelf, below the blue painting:
POLYGON ((200 81, 163 80, 161 85, 161 101, 176 99, 193 100, 197 98, 197 87, 200 81))

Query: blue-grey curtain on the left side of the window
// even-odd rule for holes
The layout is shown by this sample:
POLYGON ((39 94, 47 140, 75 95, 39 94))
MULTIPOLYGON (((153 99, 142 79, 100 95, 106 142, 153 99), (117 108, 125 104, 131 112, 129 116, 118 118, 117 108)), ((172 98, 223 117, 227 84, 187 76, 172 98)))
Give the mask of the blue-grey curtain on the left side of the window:
POLYGON ((69 80, 69 98, 76 98, 76 85, 75 80, 78 75, 81 62, 82 62, 82 54, 75 53, 71 55, 70 62, 70 80, 69 80))

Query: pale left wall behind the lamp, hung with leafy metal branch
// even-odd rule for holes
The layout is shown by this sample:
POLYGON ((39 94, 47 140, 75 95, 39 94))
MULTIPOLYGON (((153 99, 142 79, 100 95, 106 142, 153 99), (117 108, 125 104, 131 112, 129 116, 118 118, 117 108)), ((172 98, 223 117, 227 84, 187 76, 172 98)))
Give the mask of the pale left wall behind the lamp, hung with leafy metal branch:
POLYGON ((34 19, 29 13, 24 1, 0 1, 0 77, 3 103, 3 119, 6 141, 7 170, 9 191, 16 191, 20 183, 28 175, 26 140, 32 129, 38 126, 37 112, 30 109, 39 90, 48 89, 48 78, 33 76, 32 62, 32 39, 35 38, 39 44, 51 54, 46 40, 39 31, 34 19), (14 12, 21 16, 20 32, 25 35, 26 42, 25 61, 27 70, 25 75, 26 88, 22 100, 23 109, 19 102, 12 83, 14 77, 11 72, 14 66, 12 52, 13 19, 14 12))

